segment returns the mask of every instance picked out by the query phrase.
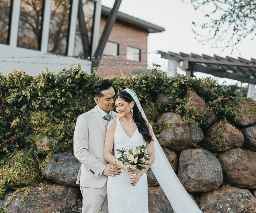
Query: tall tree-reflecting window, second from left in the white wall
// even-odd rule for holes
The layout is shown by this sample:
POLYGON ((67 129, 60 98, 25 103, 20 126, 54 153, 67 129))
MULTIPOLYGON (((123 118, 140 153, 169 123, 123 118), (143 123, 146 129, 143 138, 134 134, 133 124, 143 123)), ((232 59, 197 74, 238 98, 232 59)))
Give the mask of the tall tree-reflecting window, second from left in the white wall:
POLYGON ((21 0, 17 46, 40 49, 43 0, 21 0))

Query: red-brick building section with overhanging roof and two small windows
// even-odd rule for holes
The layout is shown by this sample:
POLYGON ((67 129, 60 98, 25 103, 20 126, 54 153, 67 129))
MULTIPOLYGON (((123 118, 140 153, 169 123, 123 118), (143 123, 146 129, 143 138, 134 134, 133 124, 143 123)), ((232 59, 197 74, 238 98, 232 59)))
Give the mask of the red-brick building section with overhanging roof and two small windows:
MULTIPOLYGON (((110 10, 102 6, 100 36, 110 10)), ((163 30, 162 27, 119 12, 97 67, 99 76, 146 70, 147 36, 149 33, 159 33, 163 30)))

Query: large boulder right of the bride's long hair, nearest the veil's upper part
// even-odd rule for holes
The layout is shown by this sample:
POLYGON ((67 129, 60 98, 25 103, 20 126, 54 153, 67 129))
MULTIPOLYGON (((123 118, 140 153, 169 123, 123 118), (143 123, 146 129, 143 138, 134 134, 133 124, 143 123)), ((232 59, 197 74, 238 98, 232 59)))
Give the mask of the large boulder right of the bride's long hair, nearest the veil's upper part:
MULTIPOLYGON (((184 125, 182 116, 177 113, 167 112, 162 116, 166 129, 161 130, 158 138, 161 146, 182 151, 203 140, 203 131, 194 119, 190 118, 191 124, 184 125)), ((158 119, 157 122, 161 123, 162 119, 158 119)))

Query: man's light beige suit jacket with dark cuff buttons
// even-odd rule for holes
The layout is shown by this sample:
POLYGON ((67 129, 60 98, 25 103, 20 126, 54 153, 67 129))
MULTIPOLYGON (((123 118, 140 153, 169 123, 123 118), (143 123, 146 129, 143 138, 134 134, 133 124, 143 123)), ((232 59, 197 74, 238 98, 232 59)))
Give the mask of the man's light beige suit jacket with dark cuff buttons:
MULTIPOLYGON (((111 111, 112 119, 119 117, 111 111)), ((106 129, 97 107, 78 116, 74 132, 74 155, 82 163, 77 183, 82 187, 102 188, 107 176, 98 175, 107 165, 104 159, 106 129)))

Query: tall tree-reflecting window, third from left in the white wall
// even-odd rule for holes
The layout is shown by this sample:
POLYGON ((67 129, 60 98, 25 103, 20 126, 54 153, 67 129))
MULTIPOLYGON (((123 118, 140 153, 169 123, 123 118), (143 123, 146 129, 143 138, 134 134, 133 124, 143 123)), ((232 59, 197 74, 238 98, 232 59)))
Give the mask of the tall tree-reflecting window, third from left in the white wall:
POLYGON ((70 26, 70 0, 52 1, 48 52, 66 55, 70 26))

